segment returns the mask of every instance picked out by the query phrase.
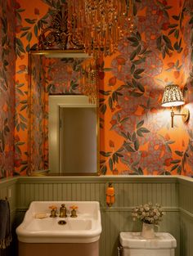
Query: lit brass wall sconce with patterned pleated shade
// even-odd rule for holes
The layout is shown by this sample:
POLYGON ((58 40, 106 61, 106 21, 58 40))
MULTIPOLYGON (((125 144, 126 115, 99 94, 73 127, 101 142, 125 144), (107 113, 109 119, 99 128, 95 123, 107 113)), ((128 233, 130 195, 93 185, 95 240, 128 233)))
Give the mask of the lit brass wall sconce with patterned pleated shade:
POLYGON ((182 114, 174 113, 174 106, 182 106, 184 105, 184 98, 182 92, 177 84, 167 85, 164 89, 164 96, 162 99, 162 106, 164 107, 172 107, 171 117, 172 117, 172 128, 173 128, 173 117, 174 115, 182 115, 182 120, 186 123, 190 117, 190 111, 188 109, 183 109, 182 114))

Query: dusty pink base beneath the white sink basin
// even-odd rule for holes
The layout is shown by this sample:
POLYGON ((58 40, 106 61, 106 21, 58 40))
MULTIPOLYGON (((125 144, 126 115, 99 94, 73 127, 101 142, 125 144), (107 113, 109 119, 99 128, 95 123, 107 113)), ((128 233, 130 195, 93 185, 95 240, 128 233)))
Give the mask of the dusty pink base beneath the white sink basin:
POLYGON ((89 244, 38 244, 38 243, 22 243, 19 241, 19 256, 98 256, 99 241, 89 244))

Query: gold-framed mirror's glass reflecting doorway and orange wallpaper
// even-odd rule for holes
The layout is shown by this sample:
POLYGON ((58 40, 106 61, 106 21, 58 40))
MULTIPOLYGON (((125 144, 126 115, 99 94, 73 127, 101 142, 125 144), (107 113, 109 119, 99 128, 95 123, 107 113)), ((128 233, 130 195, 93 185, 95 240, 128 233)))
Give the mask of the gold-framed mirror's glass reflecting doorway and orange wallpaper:
POLYGON ((32 175, 98 174, 98 111, 81 89, 87 61, 81 51, 29 54, 32 175))

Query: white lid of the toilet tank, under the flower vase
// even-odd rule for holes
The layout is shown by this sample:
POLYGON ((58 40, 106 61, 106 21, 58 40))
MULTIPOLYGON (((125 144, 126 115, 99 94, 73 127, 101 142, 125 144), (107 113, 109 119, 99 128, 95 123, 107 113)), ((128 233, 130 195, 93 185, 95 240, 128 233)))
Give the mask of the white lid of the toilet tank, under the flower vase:
POLYGON ((119 241, 123 247, 141 249, 171 249, 177 247, 176 239, 169 233, 157 232, 154 238, 146 239, 140 232, 121 232, 119 241))

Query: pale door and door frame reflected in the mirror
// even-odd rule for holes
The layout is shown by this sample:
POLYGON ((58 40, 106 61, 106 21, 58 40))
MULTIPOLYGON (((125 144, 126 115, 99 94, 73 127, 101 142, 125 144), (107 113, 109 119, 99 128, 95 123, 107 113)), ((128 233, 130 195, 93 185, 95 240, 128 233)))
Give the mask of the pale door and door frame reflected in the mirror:
POLYGON ((52 173, 96 173, 96 105, 80 95, 50 96, 48 113, 52 173))

